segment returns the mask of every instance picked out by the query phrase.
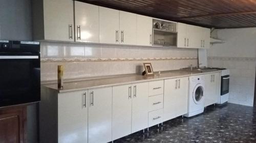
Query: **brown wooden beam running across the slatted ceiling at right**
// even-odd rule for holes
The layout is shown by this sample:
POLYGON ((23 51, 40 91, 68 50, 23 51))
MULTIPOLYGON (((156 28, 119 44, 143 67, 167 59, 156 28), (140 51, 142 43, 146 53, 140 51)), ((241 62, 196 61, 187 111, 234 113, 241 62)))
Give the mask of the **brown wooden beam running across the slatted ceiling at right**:
POLYGON ((208 15, 198 15, 198 16, 188 16, 181 18, 174 18, 173 20, 186 20, 186 19, 195 19, 201 17, 215 17, 215 16, 229 16, 229 15, 240 15, 240 14, 256 14, 256 11, 252 12, 238 12, 238 13, 221 13, 221 14, 208 14, 208 15))

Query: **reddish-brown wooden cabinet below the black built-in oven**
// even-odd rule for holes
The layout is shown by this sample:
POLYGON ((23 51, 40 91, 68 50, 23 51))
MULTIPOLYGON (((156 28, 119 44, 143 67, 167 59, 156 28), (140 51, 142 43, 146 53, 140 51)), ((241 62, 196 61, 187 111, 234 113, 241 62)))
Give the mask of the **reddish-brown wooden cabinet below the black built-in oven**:
POLYGON ((0 142, 24 143, 26 141, 27 107, 0 108, 0 142))

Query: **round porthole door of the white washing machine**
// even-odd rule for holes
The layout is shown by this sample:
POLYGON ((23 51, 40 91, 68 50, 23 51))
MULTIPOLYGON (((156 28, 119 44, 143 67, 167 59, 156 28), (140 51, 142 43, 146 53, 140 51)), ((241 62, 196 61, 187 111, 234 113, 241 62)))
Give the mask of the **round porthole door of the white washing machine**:
POLYGON ((196 104, 202 104, 204 96, 203 85, 198 83, 193 91, 193 100, 196 104))

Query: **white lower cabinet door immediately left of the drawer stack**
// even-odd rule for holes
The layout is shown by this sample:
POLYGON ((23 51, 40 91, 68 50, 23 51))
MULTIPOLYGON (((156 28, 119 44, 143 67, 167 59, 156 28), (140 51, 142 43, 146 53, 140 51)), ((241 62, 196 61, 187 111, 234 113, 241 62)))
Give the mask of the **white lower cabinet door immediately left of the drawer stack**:
POLYGON ((133 84, 132 133, 148 126, 148 82, 133 84))

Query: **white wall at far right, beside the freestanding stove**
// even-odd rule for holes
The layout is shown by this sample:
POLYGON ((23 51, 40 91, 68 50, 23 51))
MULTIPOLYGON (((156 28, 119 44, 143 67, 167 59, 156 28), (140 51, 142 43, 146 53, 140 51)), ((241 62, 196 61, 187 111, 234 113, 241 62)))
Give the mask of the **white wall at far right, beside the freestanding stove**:
POLYGON ((256 28, 216 31, 218 38, 226 42, 214 44, 208 50, 208 66, 230 69, 228 102, 253 106, 256 28))

